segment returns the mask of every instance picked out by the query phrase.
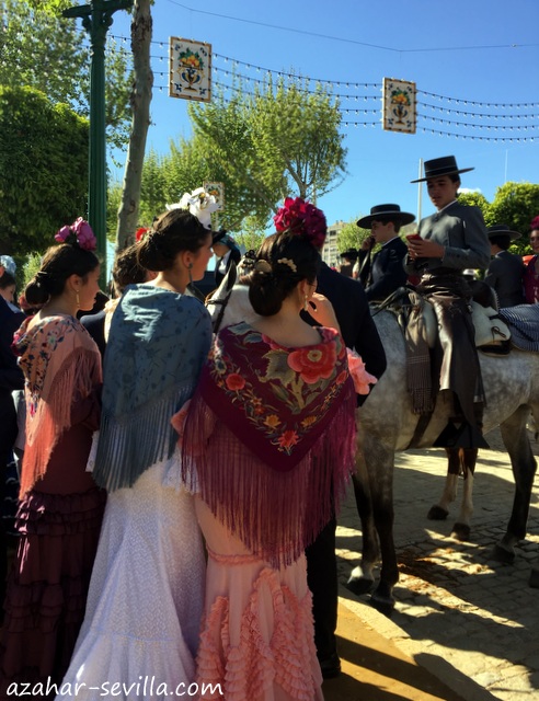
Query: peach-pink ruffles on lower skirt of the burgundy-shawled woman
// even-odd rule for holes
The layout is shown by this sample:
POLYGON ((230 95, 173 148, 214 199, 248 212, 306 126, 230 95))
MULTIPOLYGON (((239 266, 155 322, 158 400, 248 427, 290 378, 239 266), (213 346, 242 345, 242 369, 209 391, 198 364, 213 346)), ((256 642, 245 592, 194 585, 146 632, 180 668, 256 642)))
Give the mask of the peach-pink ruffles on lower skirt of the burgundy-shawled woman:
POLYGON ((197 682, 200 690, 203 685, 210 685, 217 693, 207 691, 202 699, 259 701, 272 686, 280 687, 298 701, 319 698, 322 677, 313 641, 310 591, 298 599, 280 584, 275 570, 262 570, 242 613, 236 646, 230 643, 229 612, 229 599, 219 596, 203 623, 197 682), (262 587, 270 589, 273 605, 273 634, 268 642, 262 634, 259 614, 262 587), (216 685, 220 685, 220 693, 216 685))

